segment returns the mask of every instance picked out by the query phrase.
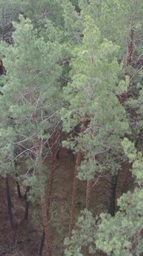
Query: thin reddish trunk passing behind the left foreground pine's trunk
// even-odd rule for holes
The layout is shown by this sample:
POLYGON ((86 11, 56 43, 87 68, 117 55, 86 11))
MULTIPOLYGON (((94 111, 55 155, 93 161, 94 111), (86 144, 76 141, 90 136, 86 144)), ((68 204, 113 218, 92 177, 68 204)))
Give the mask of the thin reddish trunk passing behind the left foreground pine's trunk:
MULTIPOLYGON (((54 132, 53 136, 52 136, 52 167, 51 167, 50 179, 49 179, 49 183, 48 183, 48 195, 47 195, 47 218, 48 218, 49 208, 50 208, 50 203, 51 203, 52 184, 53 184, 54 173, 55 173, 55 155, 57 157, 55 146, 56 146, 56 135, 54 132)), ((45 242, 45 229, 43 228, 42 239, 41 239, 41 244, 40 244, 40 249, 39 249, 39 256, 42 256, 44 242, 45 242)))

